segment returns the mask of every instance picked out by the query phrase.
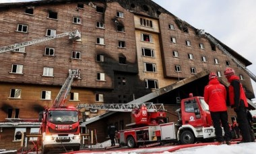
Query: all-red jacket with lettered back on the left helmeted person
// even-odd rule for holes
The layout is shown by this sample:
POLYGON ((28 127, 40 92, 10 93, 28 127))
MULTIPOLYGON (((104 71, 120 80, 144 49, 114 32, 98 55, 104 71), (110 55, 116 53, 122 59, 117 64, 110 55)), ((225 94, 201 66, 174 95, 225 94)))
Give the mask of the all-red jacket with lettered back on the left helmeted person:
POLYGON ((226 88, 217 78, 210 80, 204 88, 204 100, 211 112, 226 111, 226 88))

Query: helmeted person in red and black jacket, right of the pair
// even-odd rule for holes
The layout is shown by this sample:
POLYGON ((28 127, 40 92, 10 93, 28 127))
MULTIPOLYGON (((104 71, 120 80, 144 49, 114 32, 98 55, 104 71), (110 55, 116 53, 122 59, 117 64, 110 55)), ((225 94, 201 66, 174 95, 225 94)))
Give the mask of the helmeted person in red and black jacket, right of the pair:
POLYGON ((243 90, 243 86, 238 78, 234 75, 234 70, 232 68, 226 68, 224 71, 230 86, 228 86, 228 95, 229 101, 234 112, 236 112, 237 123, 239 129, 241 129, 242 141, 239 143, 254 142, 253 137, 251 136, 251 128, 247 121, 246 108, 248 107, 247 98, 243 90))

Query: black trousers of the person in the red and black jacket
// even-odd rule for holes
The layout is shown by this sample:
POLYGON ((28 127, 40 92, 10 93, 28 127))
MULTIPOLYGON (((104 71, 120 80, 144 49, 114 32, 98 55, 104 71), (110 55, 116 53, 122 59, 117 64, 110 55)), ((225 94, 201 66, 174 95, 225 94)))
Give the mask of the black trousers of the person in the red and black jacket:
POLYGON ((238 107, 238 110, 235 110, 237 116, 238 127, 241 130, 243 141, 251 142, 254 141, 253 131, 247 121, 247 113, 245 106, 241 105, 238 107))

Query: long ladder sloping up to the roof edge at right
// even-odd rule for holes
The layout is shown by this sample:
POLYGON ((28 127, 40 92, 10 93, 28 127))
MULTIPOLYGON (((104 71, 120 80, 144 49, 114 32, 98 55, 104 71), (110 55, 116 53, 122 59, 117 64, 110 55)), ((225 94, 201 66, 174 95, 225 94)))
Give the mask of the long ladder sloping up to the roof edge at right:
POLYGON ((232 56, 232 54, 230 54, 228 51, 226 51, 225 48, 223 48, 218 42, 216 42, 216 40, 214 39, 214 37, 212 37, 210 34, 205 33, 202 29, 199 30, 199 35, 204 35, 205 37, 207 37, 213 44, 215 44, 216 46, 218 46, 218 48, 220 50, 222 50, 222 52, 224 54, 226 54, 227 56, 229 56, 238 66, 240 66, 243 71, 249 75, 251 77, 251 79, 253 79, 256 82, 256 76, 255 74, 253 74, 253 72, 251 72, 250 70, 248 70, 241 62, 239 62, 238 60, 236 60, 236 58, 234 58, 234 56, 232 56))

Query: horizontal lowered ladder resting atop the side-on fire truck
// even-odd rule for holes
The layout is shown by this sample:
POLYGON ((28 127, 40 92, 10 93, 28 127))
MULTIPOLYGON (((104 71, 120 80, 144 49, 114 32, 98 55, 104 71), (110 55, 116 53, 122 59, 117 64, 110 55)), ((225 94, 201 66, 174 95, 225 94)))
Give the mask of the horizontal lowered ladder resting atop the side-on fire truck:
POLYGON ((131 112, 134 108, 139 109, 141 105, 146 105, 148 112, 157 112, 158 110, 164 110, 164 104, 153 104, 153 102, 145 102, 143 104, 77 104, 77 108, 91 108, 116 112, 131 112))

